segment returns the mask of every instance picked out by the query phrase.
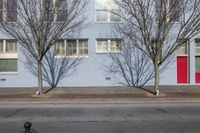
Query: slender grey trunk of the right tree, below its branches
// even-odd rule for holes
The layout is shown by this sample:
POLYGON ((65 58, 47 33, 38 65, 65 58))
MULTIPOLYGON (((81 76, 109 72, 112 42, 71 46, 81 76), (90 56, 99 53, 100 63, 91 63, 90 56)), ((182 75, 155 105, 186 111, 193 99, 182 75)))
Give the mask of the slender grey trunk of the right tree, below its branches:
POLYGON ((159 65, 157 62, 155 62, 154 64, 154 69, 155 69, 154 92, 156 96, 159 96, 160 72, 159 72, 159 65))

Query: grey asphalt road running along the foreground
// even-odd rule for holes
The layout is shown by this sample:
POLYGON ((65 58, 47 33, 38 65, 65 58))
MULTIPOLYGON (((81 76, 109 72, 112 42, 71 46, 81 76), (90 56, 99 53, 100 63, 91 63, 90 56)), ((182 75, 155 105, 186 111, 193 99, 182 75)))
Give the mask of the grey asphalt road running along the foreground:
POLYGON ((0 133, 200 133, 200 103, 0 103, 0 133))

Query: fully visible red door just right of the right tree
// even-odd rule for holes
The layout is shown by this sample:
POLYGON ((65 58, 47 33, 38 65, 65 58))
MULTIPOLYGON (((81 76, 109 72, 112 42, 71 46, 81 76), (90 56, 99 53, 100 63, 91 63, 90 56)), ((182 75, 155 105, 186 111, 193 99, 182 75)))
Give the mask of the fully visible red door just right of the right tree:
POLYGON ((177 57, 177 82, 187 83, 187 57, 177 57))

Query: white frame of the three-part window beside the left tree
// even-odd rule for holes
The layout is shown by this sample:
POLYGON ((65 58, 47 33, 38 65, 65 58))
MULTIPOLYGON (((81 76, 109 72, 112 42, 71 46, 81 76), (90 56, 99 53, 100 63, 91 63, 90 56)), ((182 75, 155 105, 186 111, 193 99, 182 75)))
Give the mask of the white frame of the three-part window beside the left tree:
MULTIPOLYGON (((65 57, 88 57, 88 54, 80 54, 79 53, 79 41, 87 41, 88 45, 88 39, 62 39, 64 41, 64 47, 65 47, 65 54, 58 54, 56 55, 57 58, 65 58, 65 57), (67 41, 75 41, 76 42, 76 54, 74 55, 68 55, 68 44, 67 41)), ((59 40, 58 40, 59 41, 59 40)), ((88 51, 88 46, 87 46, 87 51, 88 51)))

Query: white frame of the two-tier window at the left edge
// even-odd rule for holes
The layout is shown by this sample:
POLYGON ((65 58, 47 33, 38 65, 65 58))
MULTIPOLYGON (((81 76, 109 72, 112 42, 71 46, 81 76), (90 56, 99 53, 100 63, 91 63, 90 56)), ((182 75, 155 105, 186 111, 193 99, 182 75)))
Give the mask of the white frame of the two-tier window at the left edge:
MULTIPOLYGON (((3 42, 3 52, 0 53, 0 59, 2 60, 9 60, 9 59, 16 59, 18 60, 18 48, 16 49, 16 52, 6 52, 6 42, 7 41, 16 41, 15 39, 1 39, 0 41, 3 42)), ((16 41, 16 45, 17 45, 17 41, 16 41)), ((18 65, 18 63, 17 63, 18 65)), ((18 66, 17 66, 17 71, 13 71, 13 72, 0 72, 0 74, 16 74, 18 72, 18 66)))

